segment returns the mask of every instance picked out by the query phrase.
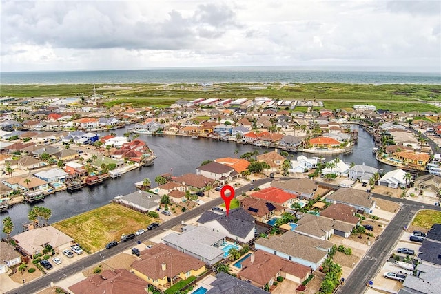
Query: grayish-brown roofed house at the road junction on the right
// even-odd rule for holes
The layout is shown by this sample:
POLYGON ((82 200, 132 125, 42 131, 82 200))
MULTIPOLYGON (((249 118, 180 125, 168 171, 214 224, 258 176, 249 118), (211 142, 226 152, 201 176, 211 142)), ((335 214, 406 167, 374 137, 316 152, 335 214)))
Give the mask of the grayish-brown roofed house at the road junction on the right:
POLYGON ((352 188, 340 188, 326 196, 325 200, 332 204, 346 204, 368 214, 372 213, 375 208, 375 201, 372 200, 371 193, 352 188))

